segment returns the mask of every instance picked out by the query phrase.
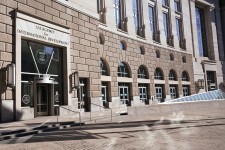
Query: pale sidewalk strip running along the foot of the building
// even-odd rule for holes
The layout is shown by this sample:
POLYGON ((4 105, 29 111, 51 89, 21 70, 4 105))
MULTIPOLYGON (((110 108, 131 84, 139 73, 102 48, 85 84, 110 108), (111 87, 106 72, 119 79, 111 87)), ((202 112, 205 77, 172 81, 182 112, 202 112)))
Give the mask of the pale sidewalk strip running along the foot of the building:
MULTIPOLYGON (((137 116, 119 116, 116 112, 113 112, 112 122, 129 122, 129 121, 141 121, 141 120, 160 120, 160 118, 174 119, 176 117, 184 117, 185 119, 193 119, 195 115, 204 115, 212 112, 210 116, 213 116, 213 112, 221 111, 221 115, 225 117, 224 109, 214 109, 214 110, 195 110, 195 111, 179 111, 164 115, 137 115, 137 116)), ((218 115, 218 113, 216 113, 218 115)), ((222 117, 221 116, 221 117, 222 117)), ((197 119, 197 118, 196 118, 197 119)), ((65 122, 76 122, 79 123, 79 115, 64 115, 58 117, 58 123, 65 122)), ((90 112, 83 112, 81 114, 81 122, 85 124, 94 124, 94 123, 111 123, 111 116, 109 112, 94 112, 92 113, 92 119, 90 120, 90 112)), ((0 135, 2 132, 14 131, 20 129, 30 130, 34 127, 40 127, 44 125, 54 125, 57 124, 57 116, 44 116, 37 117, 34 119, 24 120, 24 121, 15 121, 8 123, 0 123, 0 135)))

